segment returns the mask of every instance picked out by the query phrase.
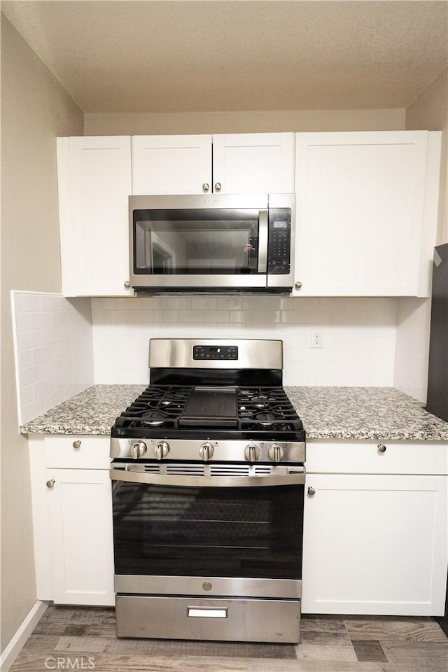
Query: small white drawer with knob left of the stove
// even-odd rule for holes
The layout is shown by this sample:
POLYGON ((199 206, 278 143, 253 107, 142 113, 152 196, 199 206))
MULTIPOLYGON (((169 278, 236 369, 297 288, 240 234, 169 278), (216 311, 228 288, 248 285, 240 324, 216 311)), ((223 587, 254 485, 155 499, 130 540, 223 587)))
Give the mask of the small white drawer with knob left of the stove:
POLYGON ((57 469, 109 469, 110 444, 109 436, 45 436, 45 465, 57 469))

